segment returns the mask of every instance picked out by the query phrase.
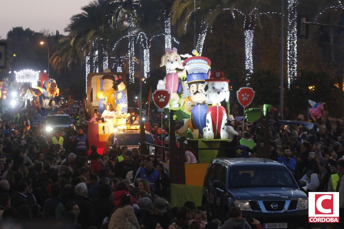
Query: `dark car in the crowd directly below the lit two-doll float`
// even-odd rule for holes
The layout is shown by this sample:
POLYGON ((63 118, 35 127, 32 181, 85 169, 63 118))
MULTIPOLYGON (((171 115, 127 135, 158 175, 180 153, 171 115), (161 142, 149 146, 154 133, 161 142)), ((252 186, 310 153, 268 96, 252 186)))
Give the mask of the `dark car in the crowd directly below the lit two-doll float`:
MULTIPOLYGON (((138 126, 139 128, 139 126, 138 126)), ((145 130, 146 142, 154 144, 154 138, 151 133, 145 130)), ((111 145, 114 146, 115 142, 118 141, 120 146, 127 146, 128 150, 133 148, 139 148, 141 145, 141 136, 140 129, 117 129, 115 128, 114 133, 112 133, 108 142, 111 142, 111 145)), ((149 146, 149 154, 154 154, 154 147, 149 146)))

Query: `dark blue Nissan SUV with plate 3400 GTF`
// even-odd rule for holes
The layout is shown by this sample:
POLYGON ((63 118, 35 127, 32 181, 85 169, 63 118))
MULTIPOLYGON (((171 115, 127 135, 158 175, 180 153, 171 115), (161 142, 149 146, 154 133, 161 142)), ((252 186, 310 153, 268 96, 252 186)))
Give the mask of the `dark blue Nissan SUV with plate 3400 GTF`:
POLYGON ((229 218, 239 207, 248 222, 258 219, 263 228, 296 228, 308 224, 308 197, 287 167, 261 158, 217 158, 204 178, 202 205, 208 217, 229 218))

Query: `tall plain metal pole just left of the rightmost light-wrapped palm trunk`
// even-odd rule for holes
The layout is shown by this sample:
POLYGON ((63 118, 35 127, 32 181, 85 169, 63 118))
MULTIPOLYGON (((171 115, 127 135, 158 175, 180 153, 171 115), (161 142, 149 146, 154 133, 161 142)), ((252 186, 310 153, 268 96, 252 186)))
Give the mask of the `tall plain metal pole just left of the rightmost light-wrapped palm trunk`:
POLYGON ((283 119, 283 70, 284 70, 284 0, 281 0, 281 75, 280 75, 280 116, 283 119))

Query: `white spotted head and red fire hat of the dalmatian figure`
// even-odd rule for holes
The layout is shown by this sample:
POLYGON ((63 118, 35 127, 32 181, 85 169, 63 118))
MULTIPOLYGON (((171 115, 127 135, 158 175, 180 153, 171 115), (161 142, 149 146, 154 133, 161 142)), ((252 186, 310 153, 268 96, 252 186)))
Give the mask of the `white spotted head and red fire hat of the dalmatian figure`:
POLYGON ((210 78, 205 80, 204 91, 202 92, 208 104, 220 105, 224 100, 229 100, 229 80, 225 79, 222 71, 214 71, 210 78))

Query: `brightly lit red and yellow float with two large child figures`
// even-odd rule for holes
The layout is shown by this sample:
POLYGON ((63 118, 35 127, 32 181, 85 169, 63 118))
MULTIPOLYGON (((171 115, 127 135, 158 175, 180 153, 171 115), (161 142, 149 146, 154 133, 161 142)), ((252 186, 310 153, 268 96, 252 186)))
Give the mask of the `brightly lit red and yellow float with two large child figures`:
POLYGON ((125 81, 126 75, 122 72, 89 73, 87 75, 86 107, 90 117, 93 113, 100 116, 97 122, 88 124, 89 145, 97 147, 97 152, 103 154, 109 136, 117 131, 140 131, 139 125, 127 123, 128 94, 125 81), (102 116, 107 105, 111 105, 111 116, 102 116), (107 131, 107 130, 111 131, 107 131))

